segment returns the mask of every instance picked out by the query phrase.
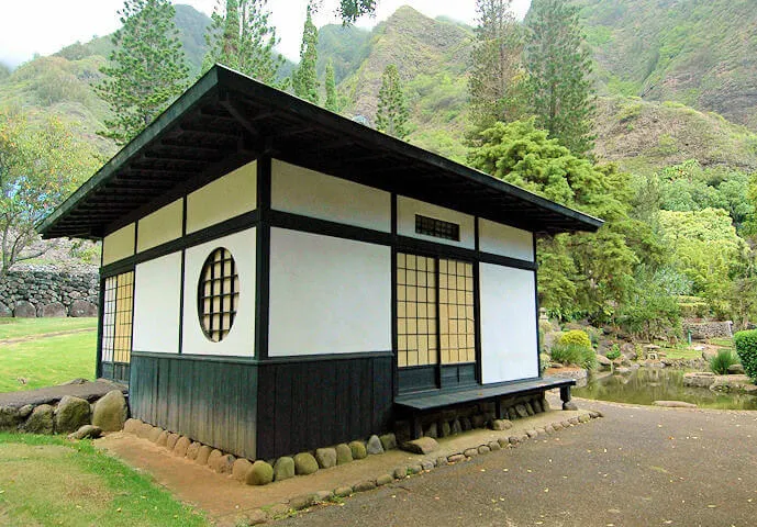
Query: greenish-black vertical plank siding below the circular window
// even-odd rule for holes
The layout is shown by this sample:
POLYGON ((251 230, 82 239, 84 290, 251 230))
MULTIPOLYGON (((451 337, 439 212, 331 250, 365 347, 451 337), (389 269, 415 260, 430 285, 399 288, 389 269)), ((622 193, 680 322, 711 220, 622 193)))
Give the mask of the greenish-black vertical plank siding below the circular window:
POLYGON ((134 352, 129 389, 133 417, 256 458, 256 363, 134 352))

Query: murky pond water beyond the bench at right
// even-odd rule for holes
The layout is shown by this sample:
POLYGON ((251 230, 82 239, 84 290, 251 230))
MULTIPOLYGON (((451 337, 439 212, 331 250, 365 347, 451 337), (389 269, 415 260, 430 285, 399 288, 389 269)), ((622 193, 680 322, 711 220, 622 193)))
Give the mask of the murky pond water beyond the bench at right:
POLYGON ((686 401, 701 408, 757 410, 757 396, 712 392, 683 385, 681 370, 639 368, 626 374, 589 377, 585 388, 575 388, 577 397, 616 403, 652 404, 654 401, 686 401))

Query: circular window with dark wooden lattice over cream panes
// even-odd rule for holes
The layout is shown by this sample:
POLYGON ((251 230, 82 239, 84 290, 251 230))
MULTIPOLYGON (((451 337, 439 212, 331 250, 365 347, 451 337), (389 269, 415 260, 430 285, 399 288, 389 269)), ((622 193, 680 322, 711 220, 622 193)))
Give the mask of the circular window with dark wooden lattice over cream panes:
POLYGON ((208 339, 219 343, 229 335, 240 301, 240 276, 232 254, 221 247, 202 265, 197 306, 208 339))

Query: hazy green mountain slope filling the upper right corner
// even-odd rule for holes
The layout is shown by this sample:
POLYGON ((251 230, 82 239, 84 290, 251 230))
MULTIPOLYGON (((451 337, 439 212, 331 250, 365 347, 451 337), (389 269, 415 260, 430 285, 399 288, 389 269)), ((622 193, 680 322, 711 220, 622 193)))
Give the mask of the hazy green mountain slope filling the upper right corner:
POLYGON ((757 131, 755 0, 577 0, 604 94, 676 101, 757 131))

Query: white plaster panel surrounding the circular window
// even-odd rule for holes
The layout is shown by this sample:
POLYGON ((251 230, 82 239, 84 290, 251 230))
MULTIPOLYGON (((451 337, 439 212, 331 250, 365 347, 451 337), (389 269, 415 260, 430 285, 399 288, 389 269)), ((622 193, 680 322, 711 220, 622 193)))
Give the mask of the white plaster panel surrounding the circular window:
POLYGON ((185 254, 182 354, 252 357, 255 354, 255 228, 190 247, 185 254), (216 248, 234 257, 240 274, 240 302, 229 335, 220 343, 205 337, 197 310, 202 265, 216 248))

